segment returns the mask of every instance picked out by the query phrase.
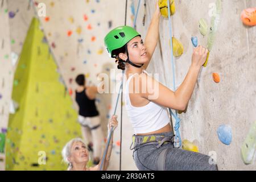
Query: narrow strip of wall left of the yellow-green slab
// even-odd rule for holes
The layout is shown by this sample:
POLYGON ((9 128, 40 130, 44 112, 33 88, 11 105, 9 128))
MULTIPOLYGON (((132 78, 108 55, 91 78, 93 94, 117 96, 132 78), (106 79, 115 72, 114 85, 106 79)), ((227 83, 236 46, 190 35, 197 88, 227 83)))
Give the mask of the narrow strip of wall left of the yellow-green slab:
MULTIPOLYGON (((9 112, 14 112, 14 102, 11 100, 13 88, 13 74, 18 61, 19 53, 26 38, 27 30, 34 11, 30 9, 31 3, 22 1, 1 1, 1 89, 0 89, 0 128, 1 128, 1 152, 5 146, 6 132, 9 120, 9 112), (21 11, 19 11, 19 9, 21 11)), ((5 151, 3 151, 5 152, 5 151)), ((0 154, 0 170, 5 169, 5 155, 0 154)))

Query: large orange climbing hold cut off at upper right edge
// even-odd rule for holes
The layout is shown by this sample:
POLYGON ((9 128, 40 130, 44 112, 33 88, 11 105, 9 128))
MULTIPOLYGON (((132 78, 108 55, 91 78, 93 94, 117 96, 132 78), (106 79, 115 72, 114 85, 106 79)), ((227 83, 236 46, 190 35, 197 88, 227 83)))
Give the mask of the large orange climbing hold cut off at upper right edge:
POLYGON ((256 7, 243 10, 241 20, 247 26, 256 26, 256 7))

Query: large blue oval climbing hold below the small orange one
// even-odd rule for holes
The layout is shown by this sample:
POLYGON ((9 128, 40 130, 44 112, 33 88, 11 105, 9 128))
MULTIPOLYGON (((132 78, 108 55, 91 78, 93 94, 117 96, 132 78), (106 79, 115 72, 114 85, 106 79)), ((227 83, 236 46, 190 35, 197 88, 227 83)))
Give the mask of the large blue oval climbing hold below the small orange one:
POLYGON ((229 145, 232 141, 232 129, 228 125, 220 125, 217 130, 218 139, 221 140, 222 143, 229 145))

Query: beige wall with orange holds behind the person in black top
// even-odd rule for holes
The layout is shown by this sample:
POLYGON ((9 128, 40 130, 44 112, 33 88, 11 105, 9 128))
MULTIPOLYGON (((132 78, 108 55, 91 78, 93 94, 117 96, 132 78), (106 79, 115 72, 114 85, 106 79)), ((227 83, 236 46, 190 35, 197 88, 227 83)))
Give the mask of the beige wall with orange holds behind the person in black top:
MULTIPOLYGON (((121 77, 120 71, 115 68, 114 60, 110 59, 104 47, 104 37, 106 32, 112 28, 121 26, 125 22, 125 1, 40 1, 45 3, 46 16, 40 18, 44 32, 48 39, 48 44, 52 48, 53 55, 59 64, 61 75, 68 86, 68 92, 73 98, 75 106, 75 77, 81 73, 86 76, 87 85, 97 85, 98 73, 105 73, 109 78, 109 90, 119 88, 121 77), (114 7, 119 8, 115 8, 114 7), (108 8, 106 8, 108 7, 108 8), (105 16, 105 15, 108 16, 105 16), (119 18, 117 18, 119 17, 119 18), (110 75, 112 77, 110 78, 110 75)), ((40 11, 39 1, 35 6, 40 11)), ((129 12, 128 12, 129 13, 129 12)), ((130 21, 131 22, 131 21, 130 21)), ((102 129, 107 137, 108 119, 114 112, 114 104, 117 98, 117 91, 113 94, 99 94, 96 100, 100 111, 102 129)), ((121 103, 121 102, 119 102, 121 103)), ((76 107, 77 108, 77 107, 76 107)), ((119 118, 120 104, 117 107, 119 118)), ((129 126, 131 130, 131 126, 129 126)), ((120 130, 119 127, 114 134, 114 147, 112 161, 108 169, 119 169, 120 154, 120 130)), ((129 136, 130 142, 130 136, 129 136)), ((123 153, 125 153, 124 151, 123 153)), ((125 154, 123 154, 125 156, 125 154)), ((132 160, 123 158, 123 166, 132 160), (127 162, 126 162, 127 160, 127 162)), ((127 168, 135 168, 135 164, 127 168)), ((132 169, 131 168, 131 169, 132 169)))

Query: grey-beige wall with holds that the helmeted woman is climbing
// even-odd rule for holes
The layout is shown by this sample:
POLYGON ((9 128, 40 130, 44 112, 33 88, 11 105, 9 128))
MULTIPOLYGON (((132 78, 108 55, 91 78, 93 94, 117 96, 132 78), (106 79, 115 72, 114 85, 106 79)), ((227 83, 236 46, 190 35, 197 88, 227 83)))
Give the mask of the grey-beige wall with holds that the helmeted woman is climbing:
MULTIPOLYGON (((220 170, 256 169, 253 158, 256 135, 256 27, 245 26, 240 18, 242 10, 256 7, 256 2, 175 1, 175 6, 176 12, 171 16, 172 36, 182 47, 180 43, 173 42, 176 46, 174 54, 178 48, 183 49, 183 54, 174 58, 176 88, 191 65, 194 49, 191 38, 196 37, 192 38, 194 44, 197 39, 199 45, 212 48, 207 67, 201 69, 187 110, 178 115, 181 118, 183 147, 212 156, 220 170), (214 27, 215 23, 218 27, 214 27), (247 165, 246 157, 250 160, 247 165)), ((145 27, 143 3, 141 7, 137 30, 145 37, 150 23, 148 18, 154 12, 154 2, 147 1, 145 27)), ((170 37, 168 18, 162 17, 159 47, 148 72, 159 73, 159 81, 174 90, 170 37)), ((175 124, 175 118, 172 121, 175 124)))

